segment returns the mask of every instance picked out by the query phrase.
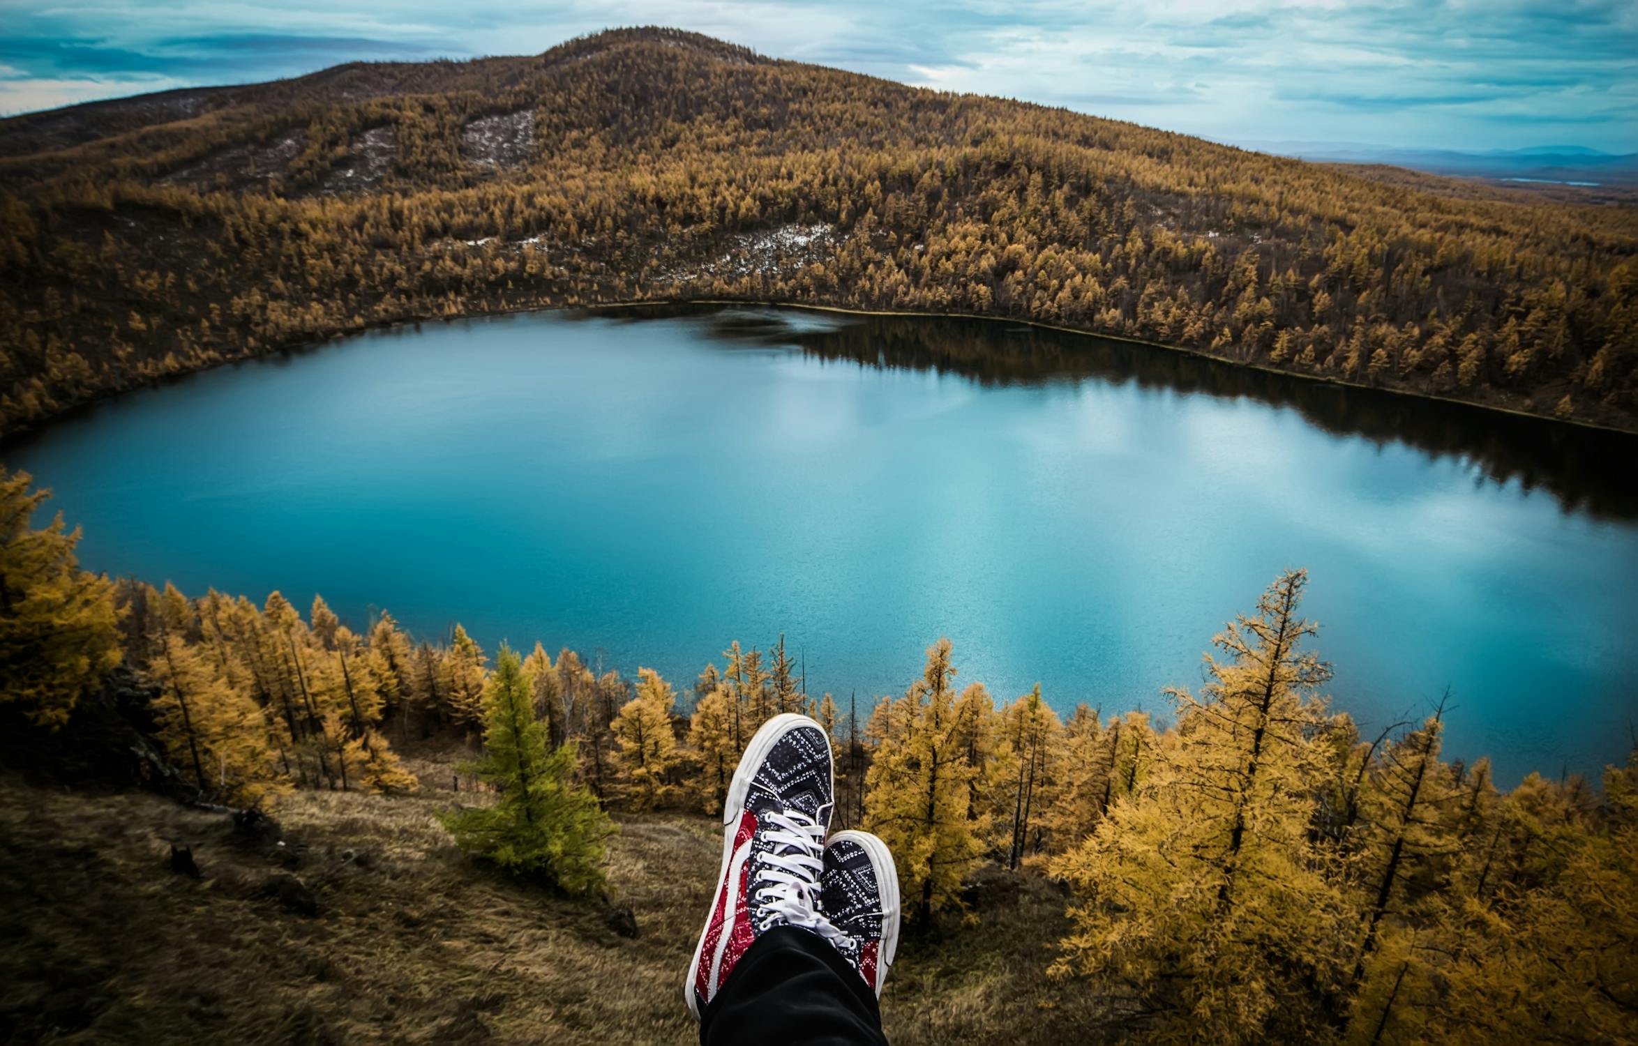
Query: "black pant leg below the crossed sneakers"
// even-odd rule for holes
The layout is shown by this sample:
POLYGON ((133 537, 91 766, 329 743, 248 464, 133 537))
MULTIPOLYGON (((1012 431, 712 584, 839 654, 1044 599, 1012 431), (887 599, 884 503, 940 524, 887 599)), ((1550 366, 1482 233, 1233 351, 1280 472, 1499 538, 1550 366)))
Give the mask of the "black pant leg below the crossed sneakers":
POLYGON ((768 930, 699 1021, 703 1046, 888 1046, 881 1008, 835 948, 801 927, 768 930))

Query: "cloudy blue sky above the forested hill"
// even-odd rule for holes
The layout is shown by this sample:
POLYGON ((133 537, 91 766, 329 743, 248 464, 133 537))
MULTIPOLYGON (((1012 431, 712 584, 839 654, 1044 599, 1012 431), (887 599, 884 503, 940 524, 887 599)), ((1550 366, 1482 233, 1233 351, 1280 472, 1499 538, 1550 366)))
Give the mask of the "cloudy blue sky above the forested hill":
POLYGON ((621 25, 1242 144, 1638 151, 1635 0, 0 0, 0 113, 621 25))

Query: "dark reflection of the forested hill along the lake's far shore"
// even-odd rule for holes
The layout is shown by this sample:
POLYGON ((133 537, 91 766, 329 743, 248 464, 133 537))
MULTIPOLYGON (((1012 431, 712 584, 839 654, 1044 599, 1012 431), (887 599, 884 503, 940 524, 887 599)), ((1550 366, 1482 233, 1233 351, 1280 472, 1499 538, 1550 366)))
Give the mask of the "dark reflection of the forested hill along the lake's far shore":
POLYGON ((1333 435, 1399 442, 1473 467, 1481 481, 1551 493, 1566 511, 1638 519, 1638 435, 1566 426, 1461 403, 1350 388, 1237 367, 1189 352, 1027 324, 960 318, 852 316, 796 309, 649 306, 591 313, 613 319, 701 316, 722 340, 798 345, 822 360, 937 370, 981 385, 1096 378, 1186 395, 1292 408, 1333 435))

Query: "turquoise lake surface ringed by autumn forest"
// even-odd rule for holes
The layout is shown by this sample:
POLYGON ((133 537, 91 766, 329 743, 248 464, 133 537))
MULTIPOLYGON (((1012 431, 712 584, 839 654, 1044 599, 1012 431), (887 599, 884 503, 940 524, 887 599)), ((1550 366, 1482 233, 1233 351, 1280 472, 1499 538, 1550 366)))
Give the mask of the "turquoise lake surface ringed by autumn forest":
POLYGON ((1510 782, 1625 756, 1638 440, 1004 322, 773 309, 385 331, 5 450, 93 570, 385 607, 686 691, 780 632, 844 710, 960 679, 1165 710, 1284 566, 1337 707, 1510 782))

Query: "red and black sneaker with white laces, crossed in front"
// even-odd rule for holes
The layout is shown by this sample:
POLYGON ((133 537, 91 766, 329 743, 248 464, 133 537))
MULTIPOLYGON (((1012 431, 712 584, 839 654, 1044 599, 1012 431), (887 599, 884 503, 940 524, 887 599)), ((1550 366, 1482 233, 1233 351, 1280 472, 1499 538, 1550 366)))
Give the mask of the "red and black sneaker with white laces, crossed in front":
POLYGON ((750 738, 722 810, 722 869, 683 989, 698 1020, 734 964, 773 927, 839 943, 819 908, 830 832, 830 738, 806 715, 775 715, 750 738))

